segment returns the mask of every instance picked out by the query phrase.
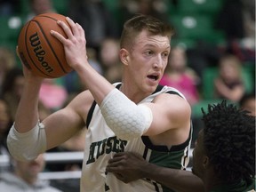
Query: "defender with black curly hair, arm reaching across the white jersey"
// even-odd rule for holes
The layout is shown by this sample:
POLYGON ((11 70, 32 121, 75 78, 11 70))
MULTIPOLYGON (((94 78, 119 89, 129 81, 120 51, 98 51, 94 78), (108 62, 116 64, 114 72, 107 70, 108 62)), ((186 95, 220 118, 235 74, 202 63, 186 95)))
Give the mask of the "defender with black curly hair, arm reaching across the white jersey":
MULTIPOLYGON (((226 102, 208 110, 193 152, 193 173, 204 181, 205 192, 255 191, 255 117, 226 102)), ((149 178, 184 192, 189 191, 184 180, 194 178, 192 172, 149 164, 128 152, 110 159, 107 171, 126 183, 149 178)))

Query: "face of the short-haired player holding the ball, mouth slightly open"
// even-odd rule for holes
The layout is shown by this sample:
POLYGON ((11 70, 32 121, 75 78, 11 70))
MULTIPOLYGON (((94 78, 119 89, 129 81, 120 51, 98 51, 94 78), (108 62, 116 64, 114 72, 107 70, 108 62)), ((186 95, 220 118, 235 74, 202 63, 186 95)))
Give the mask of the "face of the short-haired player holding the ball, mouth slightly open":
POLYGON ((170 54, 170 41, 167 36, 148 35, 142 31, 129 51, 126 72, 132 76, 132 83, 146 92, 154 92, 166 68, 170 54))

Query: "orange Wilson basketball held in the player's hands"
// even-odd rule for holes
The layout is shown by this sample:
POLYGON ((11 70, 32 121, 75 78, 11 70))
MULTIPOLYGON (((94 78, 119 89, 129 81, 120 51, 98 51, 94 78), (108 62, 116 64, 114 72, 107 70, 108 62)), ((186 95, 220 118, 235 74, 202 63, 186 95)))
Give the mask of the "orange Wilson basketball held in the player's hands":
POLYGON ((36 76, 58 78, 72 71, 66 61, 63 45, 50 33, 51 30, 55 30, 67 37, 57 24, 57 20, 63 20, 68 25, 65 16, 58 13, 44 13, 36 15, 20 30, 18 38, 20 60, 36 76))

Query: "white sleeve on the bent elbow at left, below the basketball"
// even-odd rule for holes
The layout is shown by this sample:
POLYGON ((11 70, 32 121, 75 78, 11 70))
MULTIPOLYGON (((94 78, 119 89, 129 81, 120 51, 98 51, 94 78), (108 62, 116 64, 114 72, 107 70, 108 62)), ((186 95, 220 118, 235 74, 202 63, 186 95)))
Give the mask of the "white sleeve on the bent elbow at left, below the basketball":
POLYGON ((35 159, 46 150, 44 124, 38 123, 29 132, 17 132, 14 124, 7 137, 7 146, 11 155, 20 161, 35 159))

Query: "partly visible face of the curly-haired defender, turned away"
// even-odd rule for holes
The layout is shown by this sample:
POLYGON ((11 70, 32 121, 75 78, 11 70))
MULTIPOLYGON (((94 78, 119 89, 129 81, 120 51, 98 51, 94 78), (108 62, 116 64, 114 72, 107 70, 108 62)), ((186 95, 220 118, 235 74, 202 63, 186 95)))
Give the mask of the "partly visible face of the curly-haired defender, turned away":
POLYGON ((206 155, 204 151, 204 132, 201 130, 198 133, 196 145, 193 151, 193 168, 192 172, 199 178, 204 178, 204 161, 206 155))

